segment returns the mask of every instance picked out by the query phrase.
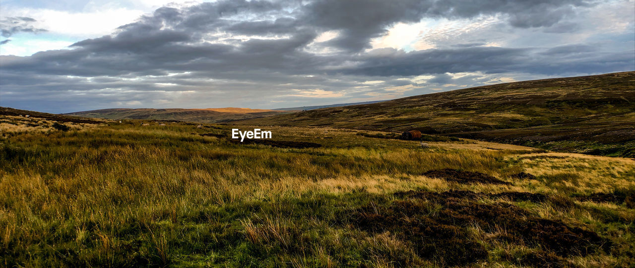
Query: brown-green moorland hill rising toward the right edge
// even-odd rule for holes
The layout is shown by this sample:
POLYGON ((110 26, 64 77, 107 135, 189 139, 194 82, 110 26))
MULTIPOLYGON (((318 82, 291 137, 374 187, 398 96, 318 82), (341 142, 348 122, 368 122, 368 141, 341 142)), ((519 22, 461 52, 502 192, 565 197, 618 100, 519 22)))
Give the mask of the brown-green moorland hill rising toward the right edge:
POLYGON ((244 120, 424 133, 635 157, 635 72, 531 80, 244 120))

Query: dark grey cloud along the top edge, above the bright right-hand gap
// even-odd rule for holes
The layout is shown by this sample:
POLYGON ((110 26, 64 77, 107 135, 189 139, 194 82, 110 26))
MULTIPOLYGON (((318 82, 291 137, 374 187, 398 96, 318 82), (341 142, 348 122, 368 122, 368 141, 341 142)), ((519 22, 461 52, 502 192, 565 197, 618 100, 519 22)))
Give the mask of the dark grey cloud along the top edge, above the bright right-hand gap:
POLYGON ((474 18, 506 15, 514 27, 549 27, 571 15, 576 6, 589 1, 471 1, 471 0, 324 0, 305 6, 304 20, 318 27, 342 30, 331 44, 350 51, 369 48, 368 40, 384 33, 397 22, 418 22, 421 18, 474 18))

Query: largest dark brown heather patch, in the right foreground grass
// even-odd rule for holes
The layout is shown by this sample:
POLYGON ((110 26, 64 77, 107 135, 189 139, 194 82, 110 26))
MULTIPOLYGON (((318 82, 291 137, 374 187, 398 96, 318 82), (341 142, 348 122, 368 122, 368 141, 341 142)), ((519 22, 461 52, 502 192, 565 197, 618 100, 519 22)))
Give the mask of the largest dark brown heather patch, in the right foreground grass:
MULTIPOLYGON (((509 193, 493 196, 503 194, 509 193)), ((524 194, 508 196, 531 196, 524 194)), ((542 250, 536 255, 518 260, 523 264, 537 262, 533 265, 538 267, 559 267, 565 265, 565 260, 560 257, 585 256, 610 247, 610 241, 593 231, 568 226, 559 220, 543 219, 515 205, 482 203, 480 198, 487 195, 483 193, 407 191, 395 195, 401 200, 385 206, 360 208, 352 213, 351 222, 372 233, 390 231, 398 239, 412 243, 420 257, 439 264, 466 265, 488 257, 486 248, 469 235, 469 229, 475 224, 493 234, 488 239, 540 246, 542 250), (505 231, 501 232, 501 226, 505 231)))

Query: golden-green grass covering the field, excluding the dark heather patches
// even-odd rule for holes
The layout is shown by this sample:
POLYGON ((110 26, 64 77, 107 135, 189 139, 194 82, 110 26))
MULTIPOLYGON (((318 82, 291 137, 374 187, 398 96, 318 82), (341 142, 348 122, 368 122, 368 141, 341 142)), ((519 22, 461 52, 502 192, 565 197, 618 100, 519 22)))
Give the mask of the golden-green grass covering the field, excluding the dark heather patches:
MULTIPOLYGON (((395 234, 335 226, 337 213, 372 198, 391 200, 393 193, 411 189, 522 191, 568 198, 573 193, 635 188, 631 159, 533 153, 531 148, 507 144, 458 141, 420 148, 415 142, 360 137, 358 131, 345 129, 260 127, 273 131, 276 140, 324 145, 292 149, 236 145, 198 135, 229 136, 230 126, 141 127, 135 122, 82 127, 69 132, 15 131, 0 141, 6 156, 0 162, 0 245, 5 264, 266 262, 338 267, 363 262, 393 267, 399 260, 434 266, 438 264, 419 258, 395 234), (494 175, 512 185, 448 183, 422 175, 448 167, 494 175), (514 179, 518 172, 537 179, 514 179), (64 250, 77 256, 56 257, 64 250), (37 258, 25 257, 25 252, 37 258)), ((575 201, 579 207, 561 208, 551 203, 497 202, 523 206, 546 219, 590 222, 598 231, 617 229, 622 232, 615 238, 619 243, 632 238, 624 222, 632 222, 633 210, 623 205, 575 201), (607 221, 608 216, 599 212, 617 221, 607 221)), ((474 228, 474 235, 483 234, 474 228)), ((491 247, 494 256, 497 250, 526 250, 491 247)), ((571 260, 592 266, 618 264, 622 257, 599 254, 571 260)))

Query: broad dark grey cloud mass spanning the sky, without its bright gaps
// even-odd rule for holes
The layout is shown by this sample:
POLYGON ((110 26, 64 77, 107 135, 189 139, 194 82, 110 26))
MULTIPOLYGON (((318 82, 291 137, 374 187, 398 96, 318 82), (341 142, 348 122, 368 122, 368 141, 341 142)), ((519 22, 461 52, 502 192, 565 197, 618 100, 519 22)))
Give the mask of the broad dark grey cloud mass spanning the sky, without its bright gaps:
MULTIPOLYGON (((88 110, 126 106, 131 101, 145 106, 162 106, 166 99, 182 101, 176 106, 210 106, 215 101, 211 106, 219 106, 240 99, 239 105, 253 106, 264 99, 297 99, 298 90, 305 95, 316 89, 351 90, 350 96, 363 98, 391 96, 393 91, 385 89, 389 87, 478 85, 490 79, 474 75, 455 79, 448 73, 559 75, 630 70, 635 61, 632 50, 608 53, 599 44, 502 48, 486 47, 487 41, 479 39, 423 51, 364 50, 370 48, 371 39, 399 22, 497 15, 509 31, 563 30, 573 27, 566 26, 571 25, 566 18, 588 6, 587 1, 575 0, 320 0, 164 7, 111 35, 76 42, 72 49, 0 56, 2 103, 36 105, 46 98, 68 105, 81 101, 86 108, 70 110, 88 110), (337 32, 337 37, 316 43, 329 30, 337 32), (422 84, 408 80, 418 75, 434 78, 422 84), (380 82, 362 84, 377 79, 380 82), (68 94, 74 97, 63 97, 68 94)), ((64 105, 50 105, 52 110, 59 107, 64 105)))

